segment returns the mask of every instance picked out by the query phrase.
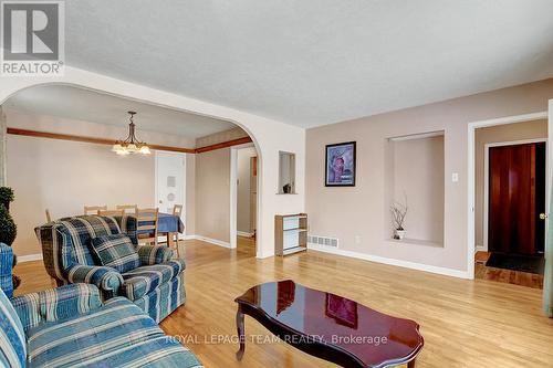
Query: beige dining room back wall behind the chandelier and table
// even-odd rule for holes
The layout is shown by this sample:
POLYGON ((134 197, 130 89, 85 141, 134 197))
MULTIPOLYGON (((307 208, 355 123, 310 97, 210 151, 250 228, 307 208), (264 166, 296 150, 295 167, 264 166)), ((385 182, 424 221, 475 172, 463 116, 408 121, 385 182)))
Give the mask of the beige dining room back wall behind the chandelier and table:
MULTIPOLYGON (((126 134, 125 128, 11 109, 7 109, 7 117, 8 126, 18 128, 114 139, 126 134)), ((194 140, 184 137, 146 132, 139 135, 153 144, 194 145, 194 140)), ((156 202, 154 155, 119 157, 105 145, 8 135, 7 157, 8 185, 15 191, 12 213, 18 224, 18 238, 13 246, 18 255, 41 252, 33 229, 45 222, 46 208, 52 217, 61 218, 81 214, 84 204, 115 207, 137 203, 149 207, 156 202)), ((187 203, 185 219, 187 228, 190 227, 188 221, 194 219, 190 203, 187 203)))

